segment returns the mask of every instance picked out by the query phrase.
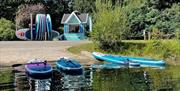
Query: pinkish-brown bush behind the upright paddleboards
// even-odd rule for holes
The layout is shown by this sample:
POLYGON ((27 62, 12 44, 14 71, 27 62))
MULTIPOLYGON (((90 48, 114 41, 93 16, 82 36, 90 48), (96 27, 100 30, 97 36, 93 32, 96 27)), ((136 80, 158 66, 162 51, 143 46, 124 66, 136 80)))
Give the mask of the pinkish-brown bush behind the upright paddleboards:
POLYGON ((30 14, 33 14, 33 17, 35 18, 35 15, 39 13, 45 13, 45 7, 43 4, 20 5, 16 13, 17 26, 20 28, 29 27, 30 14))

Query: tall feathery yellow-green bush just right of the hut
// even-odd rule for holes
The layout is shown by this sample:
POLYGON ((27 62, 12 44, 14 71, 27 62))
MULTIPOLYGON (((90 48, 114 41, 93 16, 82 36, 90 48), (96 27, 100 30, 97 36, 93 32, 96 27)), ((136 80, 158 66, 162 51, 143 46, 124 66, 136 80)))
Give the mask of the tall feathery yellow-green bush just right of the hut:
POLYGON ((112 7, 110 2, 101 3, 96 0, 94 19, 96 21, 91 34, 92 40, 104 50, 119 51, 121 40, 128 30, 126 13, 119 6, 112 7))

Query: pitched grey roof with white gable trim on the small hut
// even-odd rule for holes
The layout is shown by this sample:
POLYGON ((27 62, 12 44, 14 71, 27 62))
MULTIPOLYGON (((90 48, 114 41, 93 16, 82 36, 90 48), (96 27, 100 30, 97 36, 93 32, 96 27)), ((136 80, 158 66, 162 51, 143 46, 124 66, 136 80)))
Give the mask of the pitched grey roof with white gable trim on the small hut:
POLYGON ((63 18, 61 20, 61 23, 68 23, 69 19, 72 17, 72 15, 75 15, 78 20, 82 23, 87 23, 88 20, 88 13, 79 13, 77 11, 72 12, 71 14, 64 14, 63 18))

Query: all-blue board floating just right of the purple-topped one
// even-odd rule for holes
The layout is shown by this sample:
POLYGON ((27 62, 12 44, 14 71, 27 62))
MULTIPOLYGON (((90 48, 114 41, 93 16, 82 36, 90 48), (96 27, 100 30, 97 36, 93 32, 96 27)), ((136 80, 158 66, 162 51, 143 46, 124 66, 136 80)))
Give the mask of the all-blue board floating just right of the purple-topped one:
POLYGON ((74 59, 69 59, 69 58, 59 58, 56 62, 56 67, 57 69, 65 73, 67 75, 82 75, 83 74, 83 68, 74 59))

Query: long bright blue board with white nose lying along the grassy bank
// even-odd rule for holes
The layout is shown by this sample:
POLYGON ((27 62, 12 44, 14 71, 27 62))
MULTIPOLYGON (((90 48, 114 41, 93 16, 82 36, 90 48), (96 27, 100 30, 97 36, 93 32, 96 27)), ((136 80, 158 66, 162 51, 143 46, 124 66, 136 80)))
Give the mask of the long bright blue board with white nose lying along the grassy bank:
POLYGON ((155 59, 149 59, 149 58, 116 56, 116 55, 102 54, 98 52, 93 52, 92 55, 98 60, 122 64, 122 65, 125 65, 127 61, 139 63, 141 66, 164 66, 165 65, 165 62, 163 60, 155 60, 155 59))

